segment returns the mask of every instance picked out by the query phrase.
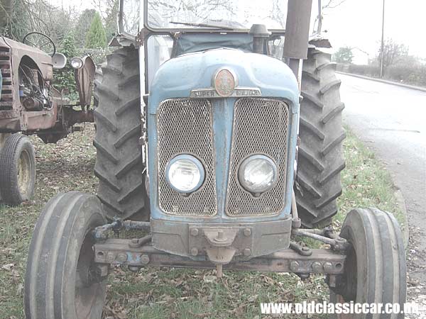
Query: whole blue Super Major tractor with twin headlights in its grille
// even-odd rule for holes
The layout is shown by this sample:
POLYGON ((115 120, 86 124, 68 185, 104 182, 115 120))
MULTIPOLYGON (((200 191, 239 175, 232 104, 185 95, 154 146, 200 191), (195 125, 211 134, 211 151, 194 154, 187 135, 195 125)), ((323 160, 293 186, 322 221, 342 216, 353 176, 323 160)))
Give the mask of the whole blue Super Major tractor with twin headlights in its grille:
POLYGON ((118 48, 95 80, 98 193, 43 209, 26 318, 101 318, 111 264, 324 274, 332 301, 405 302, 395 218, 356 208, 330 227, 344 105, 321 7, 120 1, 118 48))

